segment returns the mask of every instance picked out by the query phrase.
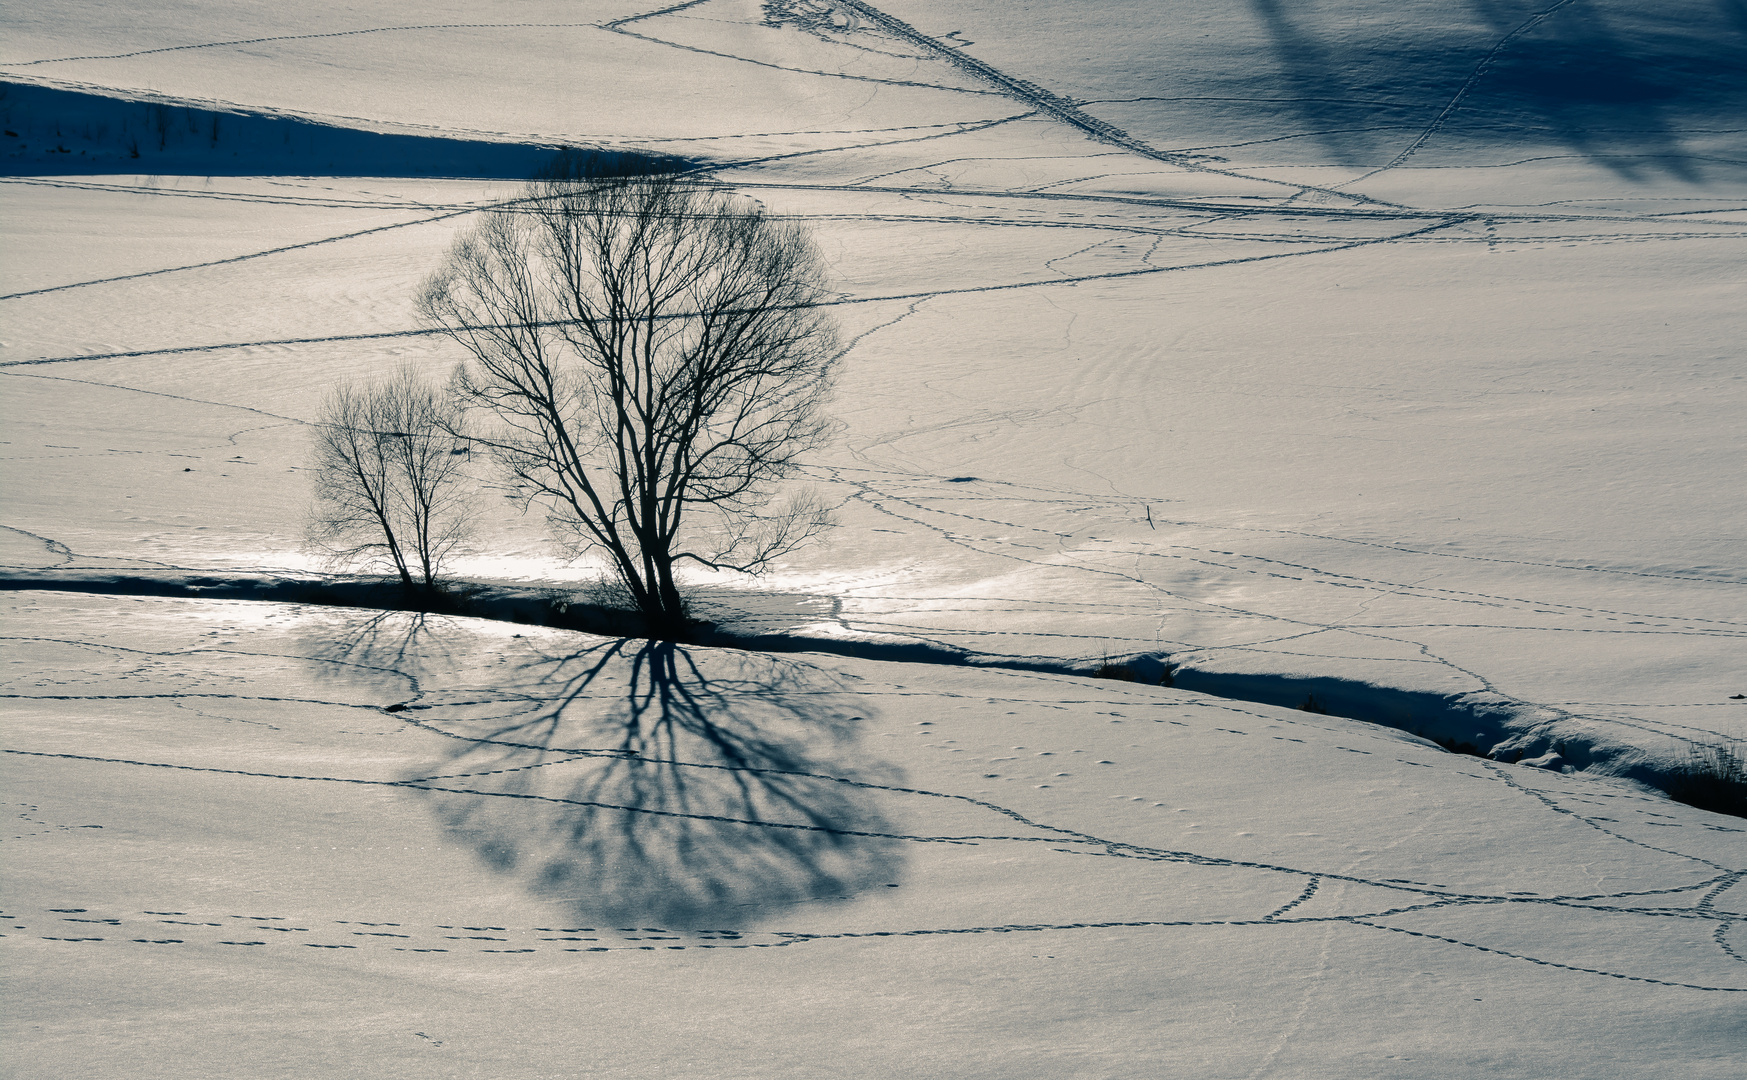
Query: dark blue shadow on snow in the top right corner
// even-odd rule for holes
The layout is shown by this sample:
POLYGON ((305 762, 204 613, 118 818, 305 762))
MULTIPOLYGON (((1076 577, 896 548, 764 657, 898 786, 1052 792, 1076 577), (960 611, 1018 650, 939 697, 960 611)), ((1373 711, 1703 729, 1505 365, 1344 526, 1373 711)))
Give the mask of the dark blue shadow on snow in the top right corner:
POLYGON ((1275 84, 1268 96, 1289 98, 1296 122, 1340 164, 1384 164, 1438 121, 1415 163, 1469 140, 1564 145, 1626 180, 1691 182, 1712 166, 1686 135, 1737 128, 1747 107, 1742 0, 1579 2, 1527 28, 1546 0, 1469 0, 1478 35, 1438 33, 1408 12, 1333 35, 1281 0, 1249 5, 1275 61, 1258 73, 1275 84))

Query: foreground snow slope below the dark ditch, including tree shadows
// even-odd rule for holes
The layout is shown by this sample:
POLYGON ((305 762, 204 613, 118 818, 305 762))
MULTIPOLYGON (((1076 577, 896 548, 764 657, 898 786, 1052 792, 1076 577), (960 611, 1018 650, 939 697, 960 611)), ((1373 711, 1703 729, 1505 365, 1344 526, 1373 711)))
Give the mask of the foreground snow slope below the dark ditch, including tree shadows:
POLYGON ((42 1075, 1667 1059, 1618 1015, 1730 1071, 1740 830, 1604 779, 1132 683, 12 596, 42 1075))

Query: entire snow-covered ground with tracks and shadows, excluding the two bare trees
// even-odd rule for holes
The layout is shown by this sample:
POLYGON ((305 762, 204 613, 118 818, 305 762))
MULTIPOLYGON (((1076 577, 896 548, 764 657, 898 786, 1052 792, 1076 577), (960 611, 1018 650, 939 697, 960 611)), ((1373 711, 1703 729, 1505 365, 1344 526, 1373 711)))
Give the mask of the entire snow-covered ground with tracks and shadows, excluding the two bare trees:
MULTIPOLYGON (((1658 790, 1747 739, 1740 3, 0 30, 19 1075, 1740 1075, 1747 821, 1658 790), (762 648, 285 603, 554 147, 832 264, 840 524, 690 582, 762 648)), ((459 573, 594 575, 475 470, 459 573)))

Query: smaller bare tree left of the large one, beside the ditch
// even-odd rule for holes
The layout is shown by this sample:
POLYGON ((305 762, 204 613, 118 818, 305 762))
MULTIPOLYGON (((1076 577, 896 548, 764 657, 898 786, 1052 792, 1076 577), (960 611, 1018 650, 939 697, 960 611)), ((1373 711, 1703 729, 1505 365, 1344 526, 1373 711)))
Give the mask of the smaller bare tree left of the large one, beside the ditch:
POLYGON ((414 369, 341 383, 316 425, 311 547, 435 592, 473 519, 468 449, 458 402, 414 369))

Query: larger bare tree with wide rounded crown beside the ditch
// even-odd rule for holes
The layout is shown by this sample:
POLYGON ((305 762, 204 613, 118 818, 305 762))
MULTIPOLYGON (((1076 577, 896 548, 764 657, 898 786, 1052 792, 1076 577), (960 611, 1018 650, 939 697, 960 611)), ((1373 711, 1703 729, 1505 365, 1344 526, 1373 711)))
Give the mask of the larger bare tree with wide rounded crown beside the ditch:
POLYGON ((749 199, 557 177, 459 236, 418 304, 472 355, 454 384, 494 416, 480 444, 671 638, 674 564, 756 573, 828 524, 777 498, 828 430, 825 281, 807 231, 749 199))

